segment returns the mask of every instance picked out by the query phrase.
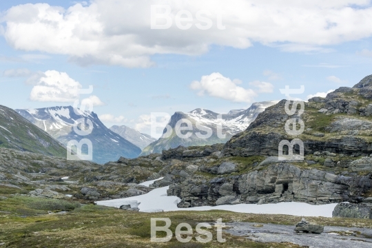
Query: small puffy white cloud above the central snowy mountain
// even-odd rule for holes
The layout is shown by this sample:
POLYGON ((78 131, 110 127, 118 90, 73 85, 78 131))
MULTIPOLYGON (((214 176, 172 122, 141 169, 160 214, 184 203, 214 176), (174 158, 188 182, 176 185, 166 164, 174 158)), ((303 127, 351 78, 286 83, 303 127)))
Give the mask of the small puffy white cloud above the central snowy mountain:
POLYGON ((245 89, 238 86, 241 83, 238 79, 231 80, 218 72, 214 72, 210 75, 202 76, 200 81, 193 81, 190 84, 190 88, 197 91, 198 96, 207 94, 236 103, 251 103, 257 93, 267 93, 273 90, 271 83, 260 81, 249 83, 249 85, 256 87, 258 90, 245 89))

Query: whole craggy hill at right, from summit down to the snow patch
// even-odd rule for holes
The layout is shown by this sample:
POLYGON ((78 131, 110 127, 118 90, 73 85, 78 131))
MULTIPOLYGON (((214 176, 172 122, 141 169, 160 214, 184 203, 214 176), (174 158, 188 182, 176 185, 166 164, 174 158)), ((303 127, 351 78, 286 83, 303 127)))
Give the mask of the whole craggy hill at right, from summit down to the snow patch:
POLYGON ((182 199, 180 207, 281 201, 359 203, 371 196, 372 75, 324 99, 310 99, 301 115, 289 116, 285 102, 268 107, 245 132, 225 144, 219 158, 238 161, 235 169, 218 176, 223 163, 205 163, 198 167, 203 176, 169 183, 168 194, 182 199), (289 118, 304 122, 302 134, 287 134, 289 118), (304 143, 304 161, 278 161, 280 141, 293 138, 304 143), (257 156, 258 162, 253 159, 257 156))

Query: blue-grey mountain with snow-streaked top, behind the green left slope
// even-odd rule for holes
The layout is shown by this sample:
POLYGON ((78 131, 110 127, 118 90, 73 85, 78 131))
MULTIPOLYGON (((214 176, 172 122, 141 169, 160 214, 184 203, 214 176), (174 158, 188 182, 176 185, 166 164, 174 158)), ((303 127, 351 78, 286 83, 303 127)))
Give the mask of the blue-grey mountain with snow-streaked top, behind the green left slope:
POLYGON ((141 153, 139 147, 105 127, 94 112, 74 111, 71 106, 16 111, 41 130, 48 132, 63 145, 67 145, 71 140, 89 139, 93 145, 93 161, 96 163, 116 161, 120 156, 136 158, 141 153), (85 123, 86 119, 92 121, 91 134, 79 136, 74 132, 74 124, 80 118, 85 118, 85 123))

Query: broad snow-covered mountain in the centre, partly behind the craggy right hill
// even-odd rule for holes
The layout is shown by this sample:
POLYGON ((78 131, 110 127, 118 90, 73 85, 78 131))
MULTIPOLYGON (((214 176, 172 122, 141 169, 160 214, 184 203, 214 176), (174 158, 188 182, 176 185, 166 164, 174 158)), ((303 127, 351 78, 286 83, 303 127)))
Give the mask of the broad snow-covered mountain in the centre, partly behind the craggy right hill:
MULTIPOLYGON (((218 113, 201 108, 192 110, 188 113, 176 112, 171 117, 168 125, 170 125, 174 130, 176 123, 180 119, 186 118, 192 122, 192 136, 189 138, 180 138, 176 135, 176 132, 172 132, 171 136, 165 138, 165 129, 163 136, 159 138, 158 141, 155 141, 154 143, 151 143, 145 147, 140 156, 152 153, 161 153, 163 149, 175 148, 179 145, 188 147, 192 145, 213 145, 216 143, 226 143, 238 132, 246 130, 247 127, 256 119, 258 114, 263 112, 267 107, 270 107, 276 103, 278 103, 278 101, 253 103, 247 110, 231 110, 227 114, 222 114, 221 118, 218 118, 218 113), (198 136, 196 136, 196 132, 200 132, 200 130, 196 128, 196 123, 203 125, 204 127, 209 127, 212 130, 212 135, 209 138, 198 138, 198 136), (222 126, 225 138, 218 137, 217 125, 222 126)), ((203 130, 201 130, 200 133, 206 134, 205 132, 203 133, 203 130)))

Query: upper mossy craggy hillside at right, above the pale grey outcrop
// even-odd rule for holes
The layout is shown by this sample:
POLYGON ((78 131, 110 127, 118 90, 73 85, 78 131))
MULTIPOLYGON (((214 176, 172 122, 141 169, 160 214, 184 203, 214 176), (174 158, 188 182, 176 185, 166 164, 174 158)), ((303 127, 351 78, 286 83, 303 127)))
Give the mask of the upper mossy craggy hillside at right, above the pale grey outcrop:
POLYGON ((372 153, 372 75, 354 87, 340 87, 325 99, 315 97, 305 103, 304 114, 285 113, 285 100, 268 107, 256 121, 225 145, 225 156, 278 156, 282 140, 300 138, 305 154, 328 151, 338 154, 369 156, 372 153), (304 121, 305 130, 297 136, 285 132, 289 118, 304 121))

